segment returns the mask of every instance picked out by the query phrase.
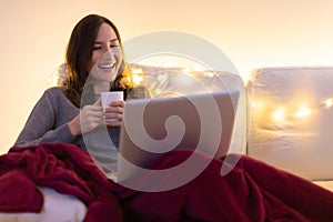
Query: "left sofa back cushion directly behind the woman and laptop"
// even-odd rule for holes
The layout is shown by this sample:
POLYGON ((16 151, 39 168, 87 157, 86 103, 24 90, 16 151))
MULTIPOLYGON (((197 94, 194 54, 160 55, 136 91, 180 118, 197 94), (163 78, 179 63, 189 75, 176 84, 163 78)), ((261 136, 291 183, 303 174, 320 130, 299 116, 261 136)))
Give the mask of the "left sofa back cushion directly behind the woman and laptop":
MULTIPOLYGON (((230 153, 246 152, 248 113, 246 91, 241 75, 228 71, 195 70, 191 67, 154 67, 131 63, 137 87, 148 89, 152 98, 179 97, 224 90, 239 90, 240 98, 234 122, 230 153)), ((51 74, 48 87, 59 85, 65 78, 65 64, 60 64, 51 74)))

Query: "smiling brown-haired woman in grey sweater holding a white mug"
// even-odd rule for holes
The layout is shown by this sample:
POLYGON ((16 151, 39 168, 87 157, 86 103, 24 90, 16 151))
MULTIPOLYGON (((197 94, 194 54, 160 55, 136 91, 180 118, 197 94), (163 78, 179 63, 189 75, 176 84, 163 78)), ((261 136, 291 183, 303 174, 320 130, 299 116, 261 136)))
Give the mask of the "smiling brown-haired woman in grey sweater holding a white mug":
POLYGON ((100 94, 123 91, 124 99, 147 97, 132 90, 117 27, 90 14, 74 27, 65 52, 68 75, 34 105, 14 145, 73 143, 88 150, 107 173, 115 171, 124 101, 102 110, 100 94), (117 119, 118 121, 108 121, 117 119))

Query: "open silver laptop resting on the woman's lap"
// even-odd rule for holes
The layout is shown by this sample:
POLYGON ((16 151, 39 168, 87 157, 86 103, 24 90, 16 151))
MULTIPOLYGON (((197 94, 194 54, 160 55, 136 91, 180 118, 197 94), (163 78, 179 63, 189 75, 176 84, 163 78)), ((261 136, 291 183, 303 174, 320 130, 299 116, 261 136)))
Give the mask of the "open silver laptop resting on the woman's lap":
POLYGON ((135 169, 149 169, 174 149, 193 149, 214 158, 228 153, 240 91, 183 97, 135 99, 125 102, 120 130, 118 181, 135 169))

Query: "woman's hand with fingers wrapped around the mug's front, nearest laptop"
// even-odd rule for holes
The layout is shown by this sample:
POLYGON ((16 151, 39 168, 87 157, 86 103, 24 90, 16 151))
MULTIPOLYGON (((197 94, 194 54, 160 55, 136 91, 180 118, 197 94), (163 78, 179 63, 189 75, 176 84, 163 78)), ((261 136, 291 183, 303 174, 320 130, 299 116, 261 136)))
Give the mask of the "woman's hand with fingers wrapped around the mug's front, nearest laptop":
POLYGON ((123 117, 124 101, 113 101, 104 110, 105 124, 109 127, 120 127, 123 117))

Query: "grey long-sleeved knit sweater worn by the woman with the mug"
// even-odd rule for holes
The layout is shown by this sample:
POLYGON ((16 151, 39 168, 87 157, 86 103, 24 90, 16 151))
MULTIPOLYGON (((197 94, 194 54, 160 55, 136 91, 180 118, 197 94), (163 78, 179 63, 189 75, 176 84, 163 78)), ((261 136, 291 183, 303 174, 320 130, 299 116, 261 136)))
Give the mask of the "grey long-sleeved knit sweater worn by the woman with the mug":
POLYGON ((100 125, 89 133, 73 137, 68 122, 79 112, 80 109, 65 97, 63 87, 46 90, 30 113, 14 145, 72 143, 92 154, 105 173, 115 172, 120 128, 100 125))

